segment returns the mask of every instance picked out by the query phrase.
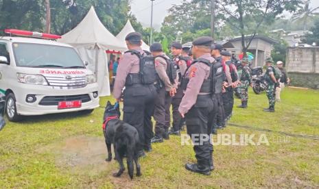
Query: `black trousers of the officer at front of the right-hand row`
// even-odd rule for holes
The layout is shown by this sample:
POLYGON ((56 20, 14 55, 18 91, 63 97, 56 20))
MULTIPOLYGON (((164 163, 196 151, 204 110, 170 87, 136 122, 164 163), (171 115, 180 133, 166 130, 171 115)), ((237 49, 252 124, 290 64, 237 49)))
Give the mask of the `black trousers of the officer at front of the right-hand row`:
POLYGON ((209 137, 211 134, 211 123, 214 117, 215 103, 211 95, 198 95, 196 104, 187 112, 186 125, 187 134, 191 136, 194 144, 193 150, 196 153, 198 164, 209 166, 213 144, 210 140, 203 140, 200 134, 209 137))

